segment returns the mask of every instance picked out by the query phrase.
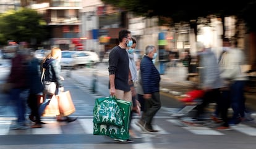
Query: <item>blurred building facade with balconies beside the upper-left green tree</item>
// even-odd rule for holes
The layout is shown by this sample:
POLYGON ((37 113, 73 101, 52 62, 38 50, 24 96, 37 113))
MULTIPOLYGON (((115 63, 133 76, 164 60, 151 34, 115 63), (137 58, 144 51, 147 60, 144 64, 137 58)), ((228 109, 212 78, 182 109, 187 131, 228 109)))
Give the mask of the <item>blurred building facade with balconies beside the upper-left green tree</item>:
POLYGON ((62 50, 82 50, 79 13, 81 0, 27 0, 23 7, 30 7, 42 14, 50 33, 44 47, 58 46, 62 50))

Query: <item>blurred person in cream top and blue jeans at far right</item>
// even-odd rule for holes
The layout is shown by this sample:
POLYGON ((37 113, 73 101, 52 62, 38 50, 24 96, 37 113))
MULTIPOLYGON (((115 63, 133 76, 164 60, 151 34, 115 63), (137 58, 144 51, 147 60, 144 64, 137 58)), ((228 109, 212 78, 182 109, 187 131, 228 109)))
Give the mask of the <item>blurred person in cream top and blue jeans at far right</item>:
MULTIPOLYGON (((231 46, 222 54, 220 60, 221 78, 226 83, 226 91, 223 91, 226 96, 229 96, 233 116, 228 121, 227 113, 229 105, 224 107, 225 119, 224 124, 218 129, 229 129, 230 125, 236 125, 245 118, 245 96, 244 87, 248 76, 242 72, 241 66, 245 64, 245 55, 241 49, 237 48, 237 42, 230 42, 231 46)), ((226 103, 228 104, 228 103, 226 103)))

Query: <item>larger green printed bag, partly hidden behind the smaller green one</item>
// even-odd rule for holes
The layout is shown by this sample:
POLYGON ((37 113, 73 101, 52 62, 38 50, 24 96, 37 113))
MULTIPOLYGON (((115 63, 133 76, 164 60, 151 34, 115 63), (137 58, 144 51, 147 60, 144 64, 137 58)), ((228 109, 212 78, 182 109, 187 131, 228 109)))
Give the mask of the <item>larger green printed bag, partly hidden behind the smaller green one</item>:
MULTIPOLYGON (((127 140, 130 139, 129 135, 129 123, 130 123, 130 114, 132 110, 132 103, 125 100, 116 99, 115 97, 106 97, 95 100, 95 107, 98 107, 98 103, 101 103, 103 100, 109 100, 112 98, 116 100, 117 105, 121 109, 119 112, 122 113, 123 126, 114 126, 113 124, 99 124, 93 122, 93 134, 94 135, 107 135, 114 139, 127 140)), ((119 115, 121 115, 121 113, 119 115)), ((97 113, 93 112, 93 119, 97 116, 97 113)))

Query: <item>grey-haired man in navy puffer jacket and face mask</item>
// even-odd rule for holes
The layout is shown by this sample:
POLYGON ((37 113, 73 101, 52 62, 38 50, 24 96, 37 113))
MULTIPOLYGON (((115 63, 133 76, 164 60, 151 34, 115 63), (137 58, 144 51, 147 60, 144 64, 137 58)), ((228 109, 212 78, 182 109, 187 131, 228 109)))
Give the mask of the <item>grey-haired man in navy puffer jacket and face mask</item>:
POLYGON ((142 117, 137 125, 145 132, 158 132, 153 129, 153 118, 161 108, 160 101, 160 73, 153 64, 157 56, 155 46, 147 46, 145 55, 140 62, 139 84, 137 91, 143 95, 144 105, 142 117))

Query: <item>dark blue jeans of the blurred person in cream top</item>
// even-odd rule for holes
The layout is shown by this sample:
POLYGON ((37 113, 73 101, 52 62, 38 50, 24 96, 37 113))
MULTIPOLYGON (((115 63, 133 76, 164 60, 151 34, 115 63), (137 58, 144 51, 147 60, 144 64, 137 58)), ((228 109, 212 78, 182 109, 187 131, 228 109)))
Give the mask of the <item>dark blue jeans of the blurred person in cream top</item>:
POLYGON ((233 119, 244 117, 245 97, 244 97, 245 81, 235 81, 231 85, 231 107, 233 109, 233 119))

